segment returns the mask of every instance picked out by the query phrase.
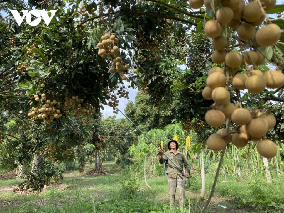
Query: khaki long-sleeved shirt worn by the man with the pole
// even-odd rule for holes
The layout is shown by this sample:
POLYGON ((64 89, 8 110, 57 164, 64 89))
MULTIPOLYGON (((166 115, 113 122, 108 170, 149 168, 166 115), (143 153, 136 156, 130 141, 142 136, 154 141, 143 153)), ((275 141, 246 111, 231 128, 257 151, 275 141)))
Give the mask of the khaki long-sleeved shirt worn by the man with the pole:
MULTIPOLYGON (((185 168, 185 173, 190 171, 190 165, 188 160, 186 159, 185 155, 179 151, 177 151, 177 154, 174 154, 172 150, 167 151, 165 153, 174 163, 179 166, 181 169, 183 169, 183 164, 185 168)), ((160 164, 163 164, 164 161, 167 160, 166 163, 166 173, 168 174, 168 177, 170 178, 177 178, 177 176, 181 176, 181 172, 176 168, 176 166, 170 162, 166 156, 162 155, 161 159, 159 159, 160 164)))

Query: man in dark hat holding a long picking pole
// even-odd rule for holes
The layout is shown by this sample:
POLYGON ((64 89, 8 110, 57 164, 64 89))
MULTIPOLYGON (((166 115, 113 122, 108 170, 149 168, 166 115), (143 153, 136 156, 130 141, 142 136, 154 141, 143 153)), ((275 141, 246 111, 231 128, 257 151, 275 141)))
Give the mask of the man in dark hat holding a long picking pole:
MULTIPOLYGON (((178 150, 178 142, 175 140, 171 140, 168 142, 168 151, 165 153, 177 166, 183 169, 183 164, 185 167, 185 175, 189 175, 190 165, 185 155, 178 150)), ((170 208, 174 208, 175 204, 175 194, 176 188, 178 188, 178 192, 180 194, 179 198, 179 208, 183 208, 183 202, 185 200, 185 176, 181 174, 181 172, 174 166, 172 162, 170 162, 166 156, 162 156, 162 149, 158 148, 159 152, 159 162, 163 164, 165 160, 167 160, 166 164, 166 174, 168 175, 168 188, 170 194, 170 208)))

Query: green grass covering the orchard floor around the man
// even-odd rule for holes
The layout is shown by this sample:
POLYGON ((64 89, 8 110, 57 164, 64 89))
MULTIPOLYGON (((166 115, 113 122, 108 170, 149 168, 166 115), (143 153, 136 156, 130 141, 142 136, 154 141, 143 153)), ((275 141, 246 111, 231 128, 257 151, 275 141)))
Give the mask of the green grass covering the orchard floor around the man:
MULTIPOLYGON (((147 189, 143 176, 131 172, 131 167, 123 170, 114 162, 104 162, 103 167, 109 175, 93 177, 78 171, 66 172, 61 184, 52 183, 39 195, 2 193, 4 187, 17 185, 21 180, 0 180, 0 212, 179 212, 177 208, 169 210, 165 176, 148 178, 152 189, 147 189)), ((85 168, 86 172, 89 170, 91 166, 85 168)), ((213 180, 214 174, 207 174, 205 198, 213 180)), ((199 199, 201 178, 195 173, 190 182, 190 189, 186 182, 186 205, 190 202, 190 212, 200 212, 205 204, 199 199)), ((284 212, 283 191, 283 177, 274 178, 267 185, 260 176, 251 182, 246 178, 236 181, 231 176, 225 181, 220 176, 207 212, 284 212)), ((185 212, 189 212, 188 208, 185 212)))

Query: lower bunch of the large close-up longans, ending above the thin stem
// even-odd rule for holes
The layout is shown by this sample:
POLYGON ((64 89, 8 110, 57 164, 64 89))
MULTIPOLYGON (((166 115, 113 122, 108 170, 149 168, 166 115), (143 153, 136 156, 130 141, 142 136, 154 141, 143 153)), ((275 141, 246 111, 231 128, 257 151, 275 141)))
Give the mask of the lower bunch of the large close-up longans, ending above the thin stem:
MULTIPOLYGON (((264 113, 259 109, 248 110, 242 108, 241 104, 236 106, 230 103, 230 93, 225 88, 226 76, 222 68, 218 66, 209 70, 206 83, 207 87, 203 89, 202 96, 206 100, 215 102, 215 108, 205 114, 206 123, 211 127, 221 127, 224 125, 225 119, 231 119, 241 127, 233 134, 225 129, 221 129, 219 133, 213 133, 208 138, 208 147, 219 151, 230 141, 237 147, 246 146, 249 140, 260 141, 257 146, 258 152, 267 158, 275 156, 277 153, 275 143, 262 139, 268 130, 275 126, 275 117, 269 112, 264 113), (267 143, 269 147, 263 148, 263 143, 267 143)), ((235 75, 232 84, 236 89, 248 89, 251 93, 261 93, 265 87, 271 89, 282 87, 284 74, 277 70, 270 70, 266 73, 262 73, 260 70, 249 70, 247 75, 235 75)))

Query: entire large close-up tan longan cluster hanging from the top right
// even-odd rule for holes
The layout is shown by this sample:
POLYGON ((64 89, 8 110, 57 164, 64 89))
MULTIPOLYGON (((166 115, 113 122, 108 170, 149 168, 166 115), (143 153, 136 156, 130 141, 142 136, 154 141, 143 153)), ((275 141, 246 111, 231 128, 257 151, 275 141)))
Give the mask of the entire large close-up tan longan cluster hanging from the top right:
MULTIPOLYGON (((259 141, 257 150, 260 155, 271 158, 277 153, 277 146, 270 140, 264 138, 267 131, 275 126, 276 119, 269 112, 263 113, 260 110, 248 110, 241 106, 230 103, 230 93, 225 88, 226 80, 229 86, 232 83, 237 90, 248 89, 251 93, 261 93, 265 87, 275 89, 284 84, 284 74, 278 70, 270 70, 266 73, 256 70, 256 65, 264 62, 264 56, 257 50, 244 51, 240 54, 238 51, 226 53, 225 48, 228 40, 222 36, 222 25, 236 27, 240 39, 251 40, 253 46, 268 47, 275 44, 280 38, 280 28, 276 24, 267 24, 256 30, 255 26, 260 25, 266 16, 266 11, 272 9, 276 1, 250 1, 247 5, 243 0, 222 0, 214 20, 209 20, 204 26, 205 34, 213 38, 212 44, 216 51, 212 54, 212 61, 220 64, 225 62, 228 68, 230 79, 225 76, 220 67, 213 67, 208 72, 207 87, 202 91, 202 95, 207 100, 213 100, 215 108, 209 110, 205 115, 207 124, 212 127, 221 127, 225 119, 231 119, 236 125, 237 130, 231 134, 225 129, 220 129, 208 138, 208 147, 214 151, 222 150, 226 143, 232 141, 237 147, 244 147, 249 140, 259 141), (240 22, 242 20, 242 22, 240 22), (235 74, 241 65, 247 67, 247 74, 235 74), (251 69, 248 65, 254 65, 251 69), (231 82, 232 80, 232 82, 231 82)), ((195 7, 201 4, 201 1, 190 1, 195 7)), ((207 9, 212 9, 210 0, 204 0, 207 9)), ((214 0, 214 7, 219 4, 214 0)))

